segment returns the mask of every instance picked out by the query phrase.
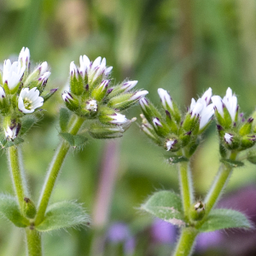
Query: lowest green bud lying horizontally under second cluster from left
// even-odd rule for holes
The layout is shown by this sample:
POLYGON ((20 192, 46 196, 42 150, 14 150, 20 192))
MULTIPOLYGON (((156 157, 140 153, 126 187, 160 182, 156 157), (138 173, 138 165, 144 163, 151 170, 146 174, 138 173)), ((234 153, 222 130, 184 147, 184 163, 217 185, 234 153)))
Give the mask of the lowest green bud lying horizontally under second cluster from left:
POLYGON ((98 123, 90 125, 89 129, 90 136, 97 139, 122 137, 124 131, 123 127, 119 125, 104 126, 98 123))

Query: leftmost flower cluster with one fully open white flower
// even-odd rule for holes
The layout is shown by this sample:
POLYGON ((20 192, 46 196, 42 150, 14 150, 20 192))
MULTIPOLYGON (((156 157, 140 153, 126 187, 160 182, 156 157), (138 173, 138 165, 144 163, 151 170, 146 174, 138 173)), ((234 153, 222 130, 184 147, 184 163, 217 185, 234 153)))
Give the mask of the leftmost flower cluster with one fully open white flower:
POLYGON ((49 79, 49 67, 46 61, 30 73, 30 52, 23 47, 18 61, 3 62, 0 76, 0 114, 4 117, 3 131, 9 141, 18 137, 22 126, 22 117, 33 113, 56 90, 44 92, 49 79))

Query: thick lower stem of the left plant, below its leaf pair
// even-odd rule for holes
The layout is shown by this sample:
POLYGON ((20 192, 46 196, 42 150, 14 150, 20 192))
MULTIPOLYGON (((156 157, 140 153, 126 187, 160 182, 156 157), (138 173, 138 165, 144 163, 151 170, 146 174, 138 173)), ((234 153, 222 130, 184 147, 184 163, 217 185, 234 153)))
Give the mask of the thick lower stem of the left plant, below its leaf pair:
POLYGON ((26 228, 26 246, 28 256, 42 256, 41 234, 37 230, 26 228))

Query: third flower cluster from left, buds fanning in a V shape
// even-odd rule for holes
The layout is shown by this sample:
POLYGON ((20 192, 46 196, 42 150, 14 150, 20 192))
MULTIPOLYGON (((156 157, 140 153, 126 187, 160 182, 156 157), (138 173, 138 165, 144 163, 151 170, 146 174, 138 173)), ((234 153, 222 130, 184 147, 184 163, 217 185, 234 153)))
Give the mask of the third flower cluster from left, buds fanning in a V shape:
POLYGON ((197 101, 192 99, 183 119, 169 93, 161 88, 158 93, 165 113, 160 113, 151 102, 142 98, 142 130, 167 151, 176 152, 185 148, 186 155, 190 156, 198 145, 199 135, 206 130, 214 113, 213 104, 210 104, 212 89, 209 88, 197 101))

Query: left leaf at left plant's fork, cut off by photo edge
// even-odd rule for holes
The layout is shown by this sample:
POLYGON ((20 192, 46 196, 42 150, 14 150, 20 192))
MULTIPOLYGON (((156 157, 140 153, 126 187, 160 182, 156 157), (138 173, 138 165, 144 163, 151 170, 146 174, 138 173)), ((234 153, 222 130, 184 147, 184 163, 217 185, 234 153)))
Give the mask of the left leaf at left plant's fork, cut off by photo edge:
POLYGON ((20 209, 14 196, 0 195, 0 213, 17 227, 25 228, 29 225, 29 221, 20 214, 20 209))

